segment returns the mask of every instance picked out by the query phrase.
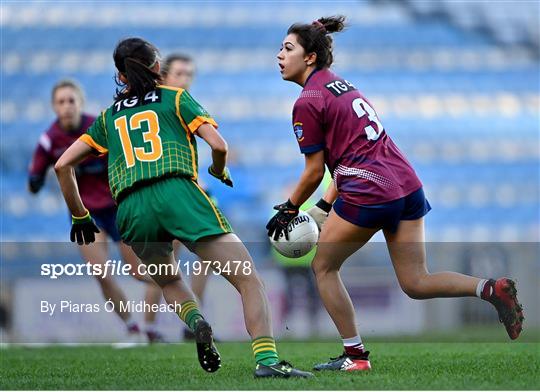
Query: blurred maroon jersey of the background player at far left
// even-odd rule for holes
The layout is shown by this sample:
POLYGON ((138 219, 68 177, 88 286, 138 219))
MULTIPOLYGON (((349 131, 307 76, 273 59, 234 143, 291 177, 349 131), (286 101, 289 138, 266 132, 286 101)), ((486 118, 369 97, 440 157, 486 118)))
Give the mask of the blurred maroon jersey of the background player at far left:
MULTIPOLYGON (((95 117, 83 115, 80 129, 66 132, 55 121, 41 135, 30 163, 30 190, 38 192, 45 181, 47 169, 56 163, 58 158, 73 144, 88 127, 95 117)), ((81 199, 90 212, 114 206, 114 200, 109 189, 107 177, 107 157, 89 157, 75 168, 77 185, 81 199)))

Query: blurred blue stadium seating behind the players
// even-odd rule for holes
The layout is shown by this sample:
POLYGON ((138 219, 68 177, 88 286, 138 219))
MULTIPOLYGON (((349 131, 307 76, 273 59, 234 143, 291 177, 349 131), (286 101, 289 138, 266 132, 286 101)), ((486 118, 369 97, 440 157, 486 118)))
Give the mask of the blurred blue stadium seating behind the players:
MULTIPOLYGON (((93 6, 92 3, 85 4, 93 6)), ((206 4, 201 12, 224 11, 229 4, 206 4)), ((257 14, 264 7, 265 10, 279 11, 275 3, 233 4, 246 8, 251 14, 257 14)), ((104 7, 101 11, 107 8, 102 2, 94 5, 104 7)), ((170 6, 168 2, 154 5, 158 11, 159 7, 170 6)), ((11 7, 12 11, 18 9, 17 5, 11 7)), ((47 12, 39 3, 25 7, 47 12)), ((290 7, 298 11, 302 5, 290 7)), ((332 7, 328 5, 317 7, 332 13, 332 7)), ((505 225, 514 225, 523 228, 518 239, 530 240, 528 228, 538 227, 540 204, 539 154, 537 149, 534 150, 534 145, 538 145, 539 123, 538 59, 525 56, 524 61, 514 61, 508 55, 503 56, 504 63, 500 67, 486 68, 456 65, 461 61, 456 55, 449 60, 454 62, 452 67, 445 68, 437 65, 437 61, 431 61, 437 51, 449 50, 454 54, 470 51, 474 54, 500 48, 484 35, 437 20, 415 21, 402 15, 381 24, 361 23, 362 10, 377 12, 378 7, 382 7, 378 3, 358 2, 347 7, 358 8, 355 20, 359 22, 335 38, 336 69, 368 98, 377 97, 392 103, 389 109, 382 110, 381 118, 387 132, 414 163, 426 186, 434 207, 427 218, 428 237, 432 234, 433 238, 445 240, 447 228, 457 227, 467 232, 473 224, 487 228, 495 236, 505 225), (370 64, 362 62, 344 64, 339 61, 340 54, 350 57, 360 52, 374 57, 382 52, 419 53, 430 60, 430 65, 395 62, 368 66, 370 64), (509 105, 517 105, 514 111, 510 107, 509 114, 501 113, 505 103, 495 102, 495 97, 500 94, 511 97, 509 105), (443 102, 452 96, 465 100, 468 105, 462 113, 452 114, 449 107, 427 114, 415 110, 406 115, 399 113, 400 97, 414 103, 421 97, 434 97, 437 102, 443 102), (488 102, 486 108, 485 104, 474 101, 476 96, 493 97, 494 102, 488 102), (481 154, 478 145, 484 146, 481 154), (422 146, 425 148, 421 149, 422 146), (512 148, 518 148, 518 153, 512 152, 512 148), (485 200, 475 199, 475 187, 487 190, 485 200), (506 204, 499 200, 502 196, 498 196, 503 187, 518 189, 506 204), (527 194, 520 194, 520 189, 527 189, 527 194), (457 192, 454 204, 452 192, 457 192)), ((394 11, 400 15, 399 11, 394 11)), ((379 12, 380 17, 385 16, 379 12)), ((44 195, 35 198, 26 191, 26 169, 31 153, 39 135, 53 120, 49 109, 50 88, 59 78, 71 76, 84 86, 89 103, 97 108, 109 104, 115 88, 112 48, 119 38, 140 35, 163 48, 163 54, 181 48, 193 54, 197 61, 200 52, 219 51, 233 56, 231 64, 239 63, 229 68, 220 68, 219 64, 198 64, 200 72, 192 93, 203 104, 213 102, 215 105, 214 114, 220 130, 233 152, 231 170, 235 188, 225 189, 204 174, 202 177, 240 235, 248 240, 264 240, 264 222, 271 206, 285 197, 283 188, 302 170, 303 158, 291 132, 290 114, 245 112, 240 116, 231 115, 221 108, 220 102, 225 105, 229 100, 241 99, 262 104, 269 99, 294 101, 300 88, 282 82, 275 69, 275 55, 288 25, 282 21, 280 18, 275 24, 247 26, 221 25, 219 20, 184 27, 155 25, 148 21, 125 27, 107 23, 96 27, 84 24, 51 26, 37 22, 3 26, 2 50, 7 54, 3 61, 12 56, 18 59, 18 65, 9 68, 3 63, 1 73, 0 98, 4 106, 0 120, 2 237, 19 241, 33 238, 31 236, 48 240, 66 238, 68 221, 61 201, 54 204, 54 208, 36 202, 45 197, 59 200, 54 176, 49 176, 44 195), (241 60, 249 61, 251 51, 257 50, 268 53, 268 60, 243 70, 241 60), (104 66, 96 63, 95 71, 91 65, 69 70, 64 64, 69 61, 65 58, 66 52, 79 56, 77 61, 82 64, 87 53, 106 53, 108 63, 104 66), (44 62, 36 66, 36 53, 45 53, 52 60, 48 65, 44 62), (36 104, 37 109, 28 108, 29 102, 36 104), (7 109, 4 110, 8 105, 13 110, 10 116, 5 114, 7 109)), ((201 153, 201 171, 207 163, 208 154, 201 153)))

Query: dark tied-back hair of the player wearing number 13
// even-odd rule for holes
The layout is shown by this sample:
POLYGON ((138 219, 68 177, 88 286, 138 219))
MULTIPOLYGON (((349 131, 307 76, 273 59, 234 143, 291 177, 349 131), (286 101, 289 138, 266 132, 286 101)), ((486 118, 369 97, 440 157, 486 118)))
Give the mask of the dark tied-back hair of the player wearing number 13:
POLYGON ((142 38, 127 38, 116 45, 113 54, 114 65, 127 79, 127 85, 116 79, 120 89, 116 90, 115 100, 136 96, 143 98, 156 89, 161 77, 152 68, 159 61, 159 51, 142 38))

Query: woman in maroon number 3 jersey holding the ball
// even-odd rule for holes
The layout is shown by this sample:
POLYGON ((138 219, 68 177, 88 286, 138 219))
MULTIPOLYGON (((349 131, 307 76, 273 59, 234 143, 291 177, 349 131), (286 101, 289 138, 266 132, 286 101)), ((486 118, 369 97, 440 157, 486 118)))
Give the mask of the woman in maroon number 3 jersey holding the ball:
POLYGON ((338 16, 292 25, 277 56, 282 78, 303 87, 292 122, 305 155, 305 169, 289 200, 275 207, 278 212, 268 222, 268 235, 288 236, 287 225, 319 186, 325 164, 334 180, 334 186, 308 213, 319 226, 324 223, 312 268, 321 298, 343 339, 344 352, 316 365, 315 370, 371 367, 339 270, 379 230, 383 230, 399 283, 411 298, 478 296, 495 306, 508 335, 516 339, 523 312, 512 280, 428 272, 423 217, 431 207, 422 183, 369 101, 329 69, 333 62, 329 34, 341 31, 344 21, 338 16))

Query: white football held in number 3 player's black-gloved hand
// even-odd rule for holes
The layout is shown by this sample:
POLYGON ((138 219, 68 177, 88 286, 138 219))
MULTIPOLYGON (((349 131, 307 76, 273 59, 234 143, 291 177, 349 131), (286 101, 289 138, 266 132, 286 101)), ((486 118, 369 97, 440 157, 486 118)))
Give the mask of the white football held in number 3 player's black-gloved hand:
POLYGON ((303 211, 300 211, 287 226, 289 240, 281 233, 277 241, 273 236, 270 242, 283 256, 296 259, 309 253, 319 240, 319 228, 315 220, 303 211))

